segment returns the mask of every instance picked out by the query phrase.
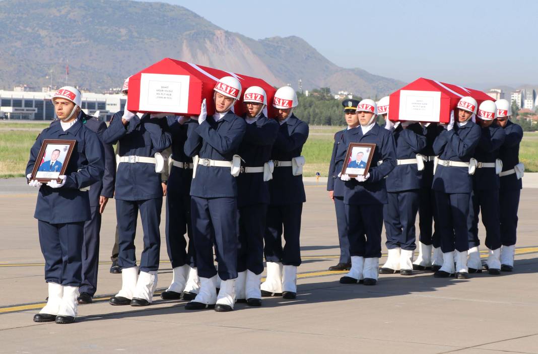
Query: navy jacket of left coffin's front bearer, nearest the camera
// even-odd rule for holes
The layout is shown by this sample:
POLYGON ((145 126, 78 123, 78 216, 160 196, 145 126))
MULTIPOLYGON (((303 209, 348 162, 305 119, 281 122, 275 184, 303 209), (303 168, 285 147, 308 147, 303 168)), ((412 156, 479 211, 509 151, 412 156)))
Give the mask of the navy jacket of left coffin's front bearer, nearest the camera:
MULTIPOLYGON (((231 161, 246 130, 245 120, 228 111, 218 122, 207 117, 197 127, 188 131, 185 154, 198 155, 201 159, 231 161)), ((237 196, 236 178, 229 167, 196 167, 196 176, 190 184, 190 195, 201 198, 237 196)))

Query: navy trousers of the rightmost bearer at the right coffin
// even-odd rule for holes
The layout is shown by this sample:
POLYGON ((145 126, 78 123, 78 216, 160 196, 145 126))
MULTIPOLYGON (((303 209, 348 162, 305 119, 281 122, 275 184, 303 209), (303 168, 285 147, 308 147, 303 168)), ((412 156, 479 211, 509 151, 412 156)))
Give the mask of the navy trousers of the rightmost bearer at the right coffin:
POLYGON ((521 189, 499 191, 501 243, 504 246, 515 245, 518 229, 518 207, 521 189))

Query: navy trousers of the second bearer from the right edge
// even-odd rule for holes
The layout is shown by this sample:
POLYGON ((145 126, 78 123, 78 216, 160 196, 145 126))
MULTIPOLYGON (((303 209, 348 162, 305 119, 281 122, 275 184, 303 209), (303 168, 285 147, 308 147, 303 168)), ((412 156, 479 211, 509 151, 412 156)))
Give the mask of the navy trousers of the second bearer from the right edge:
POLYGON ((469 204, 469 248, 478 246, 478 214, 486 228, 485 245, 490 250, 501 246, 500 211, 498 189, 473 190, 469 204))

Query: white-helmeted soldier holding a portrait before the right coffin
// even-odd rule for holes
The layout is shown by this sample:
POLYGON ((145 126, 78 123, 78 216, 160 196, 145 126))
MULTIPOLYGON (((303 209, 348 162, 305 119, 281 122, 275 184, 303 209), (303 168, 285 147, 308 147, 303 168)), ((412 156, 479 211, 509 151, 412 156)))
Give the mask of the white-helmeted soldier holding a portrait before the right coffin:
POLYGON ((376 144, 372 161, 382 160, 383 163, 371 166, 365 176, 351 179, 349 175, 342 174, 340 177, 345 181, 344 203, 351 254, 351 270, 340 278, 340 282, 376 285, 381 257, 383 205, 387 203, 385 176, 396 165, 396 152, 391 132, 376 124, 376 102, 369 98, 360 101, 357 113, 360 129, 344 133, 344 146, 351 143, 376 144))

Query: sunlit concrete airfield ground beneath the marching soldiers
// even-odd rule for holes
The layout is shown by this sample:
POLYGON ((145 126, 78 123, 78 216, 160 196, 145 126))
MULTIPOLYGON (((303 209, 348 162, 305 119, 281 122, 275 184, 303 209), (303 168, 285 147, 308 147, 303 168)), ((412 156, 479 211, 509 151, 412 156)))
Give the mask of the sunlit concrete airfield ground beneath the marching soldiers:
MULTIPOLYGON (((373 287, 341 285, 342 272, 327 271, 338 255, 334 208, 323 181, 307 185, 296 300, 237 304, 231 313, 186 311, 185 302, 158 295, 145 308, 110 306, 121 287, 121 275, 108 272, 116 225, 110 201, 96 301, 79 306, 74 324, 58 325, 32 322, 47 295, 36 191, 24 179, 0 180, 0 353, 538 353, 536 175, 523 178, 513 273, 469 280, 380 275, 373 287)), ((160 289, 172 278, 163 226, 160 289)), ((136 245, 139 254, 141 237, 136 245)))

